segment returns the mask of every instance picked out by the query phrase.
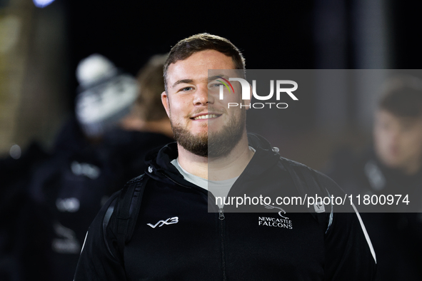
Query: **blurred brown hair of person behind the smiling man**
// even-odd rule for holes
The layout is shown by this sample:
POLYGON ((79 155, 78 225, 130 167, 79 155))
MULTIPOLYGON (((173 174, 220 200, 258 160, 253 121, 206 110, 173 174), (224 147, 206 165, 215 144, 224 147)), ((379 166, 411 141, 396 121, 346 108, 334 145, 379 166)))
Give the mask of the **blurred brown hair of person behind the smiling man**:
POLYGON ((163 66, 168 56, 168 53, 152 56, 138 73, 140 91, 136 106, 143 121, 159 121, 167 118, 166 110, 161 103, 161 93, 164 91, 163 66))

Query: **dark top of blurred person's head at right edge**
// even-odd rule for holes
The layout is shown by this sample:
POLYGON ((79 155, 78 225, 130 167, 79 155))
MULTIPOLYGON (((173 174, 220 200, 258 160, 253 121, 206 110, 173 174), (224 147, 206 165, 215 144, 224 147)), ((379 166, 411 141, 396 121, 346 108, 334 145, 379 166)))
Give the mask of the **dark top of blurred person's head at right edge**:
POLYGON ((422 81, 403 75, 390 78, 381 93, 378 108, 397 117, 421 117, 422 81))

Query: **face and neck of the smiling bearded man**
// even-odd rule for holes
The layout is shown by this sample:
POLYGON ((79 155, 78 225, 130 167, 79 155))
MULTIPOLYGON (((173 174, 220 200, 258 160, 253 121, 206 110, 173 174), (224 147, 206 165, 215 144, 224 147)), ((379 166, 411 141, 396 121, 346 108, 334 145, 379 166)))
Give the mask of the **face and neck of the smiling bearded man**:
POLYGON ((199 51, 165 66, 166 92, 161 98, 177 141, 179 164, 201 178, 208 179, 209 172, 213 180, 238 176, 253 155, 246 136, 246 109, 227 108, 240 96, 220 100, 216 91, 221 84, 216 77, 237 75, 234 69, 231 56, 216 50, 199 51), (209 77, 209 69, 225 73, 209 77))

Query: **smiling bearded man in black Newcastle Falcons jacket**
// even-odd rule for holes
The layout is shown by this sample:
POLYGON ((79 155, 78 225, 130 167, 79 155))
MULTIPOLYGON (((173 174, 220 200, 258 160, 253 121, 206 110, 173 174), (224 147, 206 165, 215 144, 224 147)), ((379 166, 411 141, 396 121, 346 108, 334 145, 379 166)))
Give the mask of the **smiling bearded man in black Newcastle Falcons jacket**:
POLYGON ((97 215, 76 281, 373 280, 375 253, 353 206, 286 212, 216 200, 341 194, 325 175, 246 133, 247 106, 227 107, 241 102, 240 86, 218 96, 221 81, 244 73, 238 48, 219 36, 197 34, 171 49, 161 99, 176 143, 151 153, 146 173, 97 215))

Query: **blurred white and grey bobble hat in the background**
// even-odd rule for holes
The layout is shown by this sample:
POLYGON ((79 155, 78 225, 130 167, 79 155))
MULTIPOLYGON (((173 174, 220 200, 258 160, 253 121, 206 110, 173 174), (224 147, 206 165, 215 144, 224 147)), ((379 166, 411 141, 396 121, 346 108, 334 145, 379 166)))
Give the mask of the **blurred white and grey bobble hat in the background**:
POLYGON ((85 58, 76 76, 81 84, 76 118, 87 136, 101 136, 131 111, 139 91, 136 79, 119 73, 109 59, 97 53, 85 58))

